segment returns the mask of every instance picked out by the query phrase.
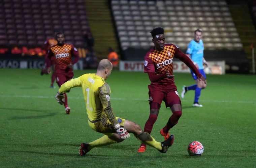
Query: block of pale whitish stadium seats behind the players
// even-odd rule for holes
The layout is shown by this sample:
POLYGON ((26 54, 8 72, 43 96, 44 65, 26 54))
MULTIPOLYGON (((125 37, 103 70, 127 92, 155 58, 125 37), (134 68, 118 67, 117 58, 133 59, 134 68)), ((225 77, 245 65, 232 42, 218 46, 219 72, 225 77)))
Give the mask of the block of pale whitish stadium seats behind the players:
POLYGON ((122 50, 152 46, 155 27, 163 27, 166 42, 180 48, 201 28, 206 49, 243 49, 225 0, 112 0, 111 9, 122 50))

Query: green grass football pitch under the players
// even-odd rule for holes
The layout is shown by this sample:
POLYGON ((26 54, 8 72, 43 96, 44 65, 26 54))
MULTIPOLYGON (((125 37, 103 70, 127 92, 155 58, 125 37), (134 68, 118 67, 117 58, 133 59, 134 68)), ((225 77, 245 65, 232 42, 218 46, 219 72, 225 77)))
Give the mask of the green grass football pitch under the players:
MULTIPOLYGON (((194 84, 190 74, 174 75, 179 93, 183 85, 194 84)), ((202 108, 192 107, 194 92, 187 92, 182 117, 170 130, 174 143, 165 154, 150 146, 138 153, 140 142, 131 135, 85 157, 79 156, 80 144, 103 134, 88 126, 81 88, 67 93, 71 114, 66 115, 54 99, 58 86, 50 88, 50 75, 41 76, 38 69, 0 69, 0 78, 0 167, 255 167, 256 76, 207 75, 202 108), (204 145, 202 156, 188 155, 192 141, 204 145)), ((147 74, 113 71, 106 82, 116 116, 143 129, 149 117, 147 74)), ((159 131, 170 115, 162 103, 151 133, 157 141, 163 141, 159 131)))

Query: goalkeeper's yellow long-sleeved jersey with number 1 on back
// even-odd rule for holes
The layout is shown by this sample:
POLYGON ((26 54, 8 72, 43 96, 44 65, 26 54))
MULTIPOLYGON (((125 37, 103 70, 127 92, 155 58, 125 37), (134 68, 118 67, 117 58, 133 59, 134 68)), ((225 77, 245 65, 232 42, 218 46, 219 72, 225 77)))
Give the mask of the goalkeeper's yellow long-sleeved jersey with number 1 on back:
POLYGON ((61 85, 59 92, 65 93, 73 87, 82 87, 88 119, 97 122, 107 117, 115 125, 117 120, 110 104, 110 87, 96 74, 85 74, 61 85))

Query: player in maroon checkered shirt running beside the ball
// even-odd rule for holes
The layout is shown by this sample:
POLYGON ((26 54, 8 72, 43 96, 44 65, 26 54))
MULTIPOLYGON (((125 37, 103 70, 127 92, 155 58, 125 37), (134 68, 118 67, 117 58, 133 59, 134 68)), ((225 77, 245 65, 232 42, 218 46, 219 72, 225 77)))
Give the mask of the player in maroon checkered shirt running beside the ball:
MULTIPOLYGON (((147 120, 144 131, 151 133, 153 125, 157 120, 162 101, 165 106, 170 107, 172 115, 167 124, 160 130, 164 139, 169 138, 169 129, 178 123, 182 115, 181 100, 174 84, 174 75, 172 73, 173 58, 178 58, 190 67, 201 82, 206 82, 199 73, 193 62, 174 44, 165 44, 164 29, 155 28, 151 31, 153 37, 152 48, 145 55, 144 72, 148 73, 151 84, 149 87, 150 115, 147 120)), ((172 142, 173 143, 173 140, 172 142)), ((138 152, 145 152, 146 144, 141 143, 138 152)))

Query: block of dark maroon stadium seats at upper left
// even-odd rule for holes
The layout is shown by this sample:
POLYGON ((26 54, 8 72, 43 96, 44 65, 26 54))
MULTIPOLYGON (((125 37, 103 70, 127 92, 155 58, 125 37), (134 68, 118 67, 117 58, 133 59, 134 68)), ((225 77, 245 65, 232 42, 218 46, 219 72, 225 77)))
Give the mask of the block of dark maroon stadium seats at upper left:
POLYGON ((54 31, 63 31, 66 42, 84 47, 90 30, 84 0, 2 0, 0 45, 42 46, 54 31), (3 2, 3 3, 2 3, 3 2))

